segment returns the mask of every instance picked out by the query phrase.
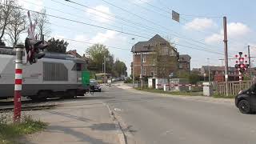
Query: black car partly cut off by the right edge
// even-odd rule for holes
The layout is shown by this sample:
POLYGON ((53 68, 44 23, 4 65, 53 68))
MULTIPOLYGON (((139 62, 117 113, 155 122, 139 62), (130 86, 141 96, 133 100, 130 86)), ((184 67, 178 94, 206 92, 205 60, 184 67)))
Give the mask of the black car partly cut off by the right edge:
POLYGON ((256 111, 256 83, 248 90, 241 90, 235 97, 235 106, 242 114, 250 114, 256 111))

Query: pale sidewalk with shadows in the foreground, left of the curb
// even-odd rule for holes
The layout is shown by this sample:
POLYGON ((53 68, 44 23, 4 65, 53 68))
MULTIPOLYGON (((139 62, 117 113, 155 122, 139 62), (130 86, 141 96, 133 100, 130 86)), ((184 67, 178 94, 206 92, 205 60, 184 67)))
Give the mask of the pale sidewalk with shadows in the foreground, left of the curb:
POLYGON ((22 138, 28 144, 119 143, 109 110, 101 102, 65 102, 54 110, 31 111, 33 118, 48 122, 46 130, 22 138))

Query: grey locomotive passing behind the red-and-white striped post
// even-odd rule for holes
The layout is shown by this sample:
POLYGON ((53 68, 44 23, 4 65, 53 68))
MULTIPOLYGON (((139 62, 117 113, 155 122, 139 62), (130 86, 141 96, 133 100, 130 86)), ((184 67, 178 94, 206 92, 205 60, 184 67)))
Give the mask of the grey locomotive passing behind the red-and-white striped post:
MULTIPOLYGON (((0 48, 0 98, 14 95, 14 59, 13 49, 0 48)), ((89 82, 88 85, 82 84, 84 70, 86 62, 80 58, 46 53, 37 63, 23 65, 22 96, 46 99, 84 95, 90 89, 89 82)))

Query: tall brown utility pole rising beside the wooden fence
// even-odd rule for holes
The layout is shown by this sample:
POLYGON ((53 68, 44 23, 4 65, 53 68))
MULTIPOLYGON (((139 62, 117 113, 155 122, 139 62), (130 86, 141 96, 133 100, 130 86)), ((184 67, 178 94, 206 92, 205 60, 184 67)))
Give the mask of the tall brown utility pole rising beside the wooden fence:
POLYGON ((228 55, 227 55, 227 32, 226 32, 226 17, 223 17, 223 28, 224 28, 224 52, 225 52, 225 82, 226 82, 226 95, 228 95, 228 55))

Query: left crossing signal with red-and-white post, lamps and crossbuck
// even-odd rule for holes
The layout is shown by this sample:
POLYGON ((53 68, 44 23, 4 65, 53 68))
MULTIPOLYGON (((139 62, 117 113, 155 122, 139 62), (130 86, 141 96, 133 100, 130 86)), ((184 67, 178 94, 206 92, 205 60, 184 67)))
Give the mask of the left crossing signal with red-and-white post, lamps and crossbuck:
MULTIPOLYGON (((44 37, 41 40, 37 39, 34 34, 35 26, 37 22, 32 23, 30 18, 30 11, 28 11, 28 18, 30 20, 30 28, 28 29, 29 37, 25 40, 25 50, 26 50, 26 63, 30 62, 32 65, 36 63, 38 59, 45 56, 43 50, 46 48, 47 43, 44 42, 44 37)), ((22 110, 22 52, 24 46, 18 45, 14 47, 16 51, 15 59, 15 82, 14 82, 14 122, 20 122, 21 110, 22 110)))

